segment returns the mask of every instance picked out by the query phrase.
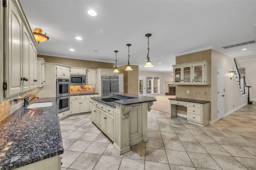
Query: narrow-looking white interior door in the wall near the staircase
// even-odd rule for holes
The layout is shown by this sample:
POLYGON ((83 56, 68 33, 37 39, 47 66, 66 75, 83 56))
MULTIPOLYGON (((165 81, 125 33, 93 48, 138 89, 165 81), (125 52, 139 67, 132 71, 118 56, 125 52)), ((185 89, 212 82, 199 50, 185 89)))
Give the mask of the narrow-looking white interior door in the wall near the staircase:
POLYGON ((223 68, 217 68, 217 99, 218 99, 218 120, 224 117, 224 84, 223 68))

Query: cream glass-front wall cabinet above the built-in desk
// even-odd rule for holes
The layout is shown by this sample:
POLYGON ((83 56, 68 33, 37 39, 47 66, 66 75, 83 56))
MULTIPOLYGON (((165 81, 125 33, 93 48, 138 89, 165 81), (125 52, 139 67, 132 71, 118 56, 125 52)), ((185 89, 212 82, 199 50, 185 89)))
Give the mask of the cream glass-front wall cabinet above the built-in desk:
POLYGON ((173 66, 173 84, 209 85, 210 61, 176 64, 173 66))

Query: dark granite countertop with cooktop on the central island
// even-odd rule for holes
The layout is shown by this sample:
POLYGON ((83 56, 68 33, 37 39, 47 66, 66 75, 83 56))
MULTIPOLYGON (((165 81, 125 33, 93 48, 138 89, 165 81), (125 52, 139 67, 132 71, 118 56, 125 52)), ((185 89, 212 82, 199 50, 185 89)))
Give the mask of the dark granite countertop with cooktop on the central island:
POLYGON ((116 104, 122 105, 131 105, 131 104, 139 104, 139 103, 146 103, 146 102, 154 102, 156 98, 149 97, 149 96, 140 96, 135 94, 127 94, 127 93, 119 93, 119 92, 111 92, 109 96, 100 96, 92 98, 98 102, 104 103, 111 107, 116 107, 116 104), (104 102, 101 100, 102 98, 118 98, 120 100, 116 100, 114 102, 104 102))

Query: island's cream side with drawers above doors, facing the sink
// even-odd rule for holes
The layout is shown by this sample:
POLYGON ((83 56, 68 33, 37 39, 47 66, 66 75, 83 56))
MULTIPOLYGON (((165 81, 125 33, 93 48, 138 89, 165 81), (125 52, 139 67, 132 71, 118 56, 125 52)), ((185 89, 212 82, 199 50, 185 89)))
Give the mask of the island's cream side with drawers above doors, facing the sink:
POLYGON ((98 103, 92 103, 92 121, 111 139, 114 134, 114 108, 98 103))

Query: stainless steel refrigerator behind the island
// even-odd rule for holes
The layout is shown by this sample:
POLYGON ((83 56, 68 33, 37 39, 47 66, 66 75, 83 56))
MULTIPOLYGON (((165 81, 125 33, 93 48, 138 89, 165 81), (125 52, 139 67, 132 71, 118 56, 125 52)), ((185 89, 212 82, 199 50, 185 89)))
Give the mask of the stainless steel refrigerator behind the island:
POLYGON ((101 77, 101 96, 108 96, 109 92, 119 92, 118 77, 101 77))

